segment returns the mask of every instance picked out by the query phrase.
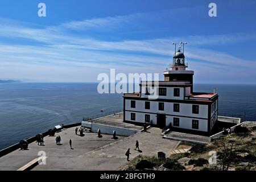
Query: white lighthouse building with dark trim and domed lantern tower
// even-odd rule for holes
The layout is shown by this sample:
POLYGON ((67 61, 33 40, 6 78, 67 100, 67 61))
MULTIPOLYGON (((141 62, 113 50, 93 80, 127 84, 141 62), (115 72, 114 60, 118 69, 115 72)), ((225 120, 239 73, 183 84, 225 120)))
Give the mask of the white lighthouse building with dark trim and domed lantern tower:
POLYGON ((141 81, 140 92, 123 94, 123 120, 170 127, 184 133, 209 135, 218 115, 218 94, 193 92, 193 71, 183 52, 175 51, 164 81, 141 81), (157 98, 152 99, 151 90, 157 98))

